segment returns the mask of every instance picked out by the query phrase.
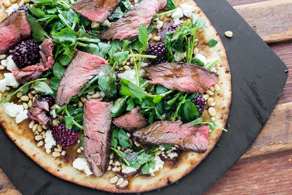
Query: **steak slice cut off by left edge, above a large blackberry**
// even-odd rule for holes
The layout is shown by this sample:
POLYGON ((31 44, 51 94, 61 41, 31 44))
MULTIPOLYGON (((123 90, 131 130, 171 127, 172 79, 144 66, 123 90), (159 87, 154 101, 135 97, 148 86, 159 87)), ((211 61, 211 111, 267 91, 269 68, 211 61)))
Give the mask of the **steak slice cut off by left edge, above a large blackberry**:
POLYGON ((31 35, 25 11, 17 11, 0 23, 0 54, 31 35))

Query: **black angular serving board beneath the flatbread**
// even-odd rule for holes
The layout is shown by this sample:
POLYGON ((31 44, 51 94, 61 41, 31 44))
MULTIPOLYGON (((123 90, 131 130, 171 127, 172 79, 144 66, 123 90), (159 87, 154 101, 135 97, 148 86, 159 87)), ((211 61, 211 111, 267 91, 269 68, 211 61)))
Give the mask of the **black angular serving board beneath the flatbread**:
MULTIPOLYGON (((220 147, 215 147, 191 174, 176 184, 143 195, 197 195, 211 187, 254 141, 288 77, 285 64, 226 0, 196 2, 217 29, 227 51, 232 74, 230 128, 220 138, 220 147), (227 30, 233 31, 232 39, 224 36, 227 30)), ((3 131, 0 149, 0 166, 23 195, 110 195, 50 175, 24 155, 3 131)))

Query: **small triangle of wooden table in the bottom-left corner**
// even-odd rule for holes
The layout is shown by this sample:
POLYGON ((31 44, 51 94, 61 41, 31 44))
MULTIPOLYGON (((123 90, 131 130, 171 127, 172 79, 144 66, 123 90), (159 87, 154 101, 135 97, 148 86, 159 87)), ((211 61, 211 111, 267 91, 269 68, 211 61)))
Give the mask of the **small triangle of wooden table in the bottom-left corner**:
POLYGON ((16 186, 12 183, 8 176, 0 167, 0 185, 2 189, 0 190, 1 195, 21 195, 16 186))

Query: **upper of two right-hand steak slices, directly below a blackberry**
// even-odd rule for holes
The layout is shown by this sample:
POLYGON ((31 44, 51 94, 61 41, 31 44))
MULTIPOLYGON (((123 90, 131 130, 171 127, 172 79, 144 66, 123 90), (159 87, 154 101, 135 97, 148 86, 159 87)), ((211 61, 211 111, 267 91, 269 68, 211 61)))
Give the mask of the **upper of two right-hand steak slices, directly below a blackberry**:
POLYGON ((151 84, 187 93, 203 93, 215 85, 219 77, 201 66, 182 62, 149 65, 143 69, 144 77, 149 78, 151 84))

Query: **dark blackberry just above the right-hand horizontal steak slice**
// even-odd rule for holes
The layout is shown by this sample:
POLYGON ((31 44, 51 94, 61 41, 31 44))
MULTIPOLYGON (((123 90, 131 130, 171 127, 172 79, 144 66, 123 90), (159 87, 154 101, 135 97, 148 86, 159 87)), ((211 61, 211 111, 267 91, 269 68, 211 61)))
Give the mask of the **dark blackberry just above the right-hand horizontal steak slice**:
POLYGON ((156 56, 156 59, 149 59, 150 64, 161 64, 165 62, 166 47, 162 42, 156 44, 150 43, 146 53, 156 56))

